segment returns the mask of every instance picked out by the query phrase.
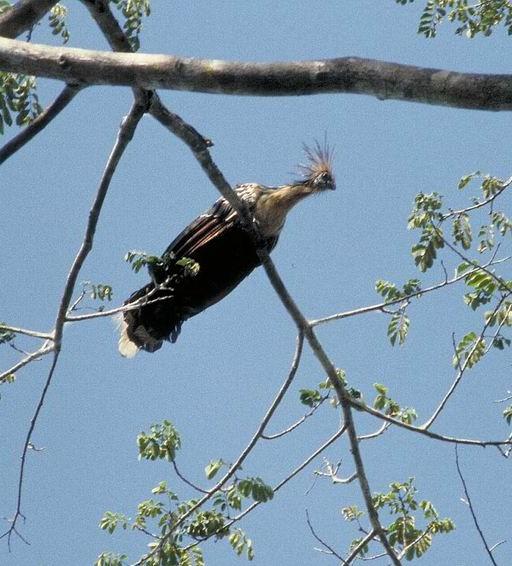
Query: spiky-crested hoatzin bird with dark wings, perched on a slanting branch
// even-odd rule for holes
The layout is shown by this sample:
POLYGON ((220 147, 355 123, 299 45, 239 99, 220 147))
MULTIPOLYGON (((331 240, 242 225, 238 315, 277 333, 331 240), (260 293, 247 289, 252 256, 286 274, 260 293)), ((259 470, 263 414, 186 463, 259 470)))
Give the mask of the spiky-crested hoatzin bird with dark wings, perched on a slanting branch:
POLYGON ((291 183, 235 187, 256 230, 248 229, 221 197, 171 242, 159 261, 148 266, 151 281, 123 303, 129 308, 120 316, 122 356, 156 352, 165 341, 176 342, 187 319, 223 299, 261 265, 254 232, 258 245, 270 253, 286 215, 298 202, 336 189, 333 150, 327 142, 305 145, 304 151, 300 177, 291 183))

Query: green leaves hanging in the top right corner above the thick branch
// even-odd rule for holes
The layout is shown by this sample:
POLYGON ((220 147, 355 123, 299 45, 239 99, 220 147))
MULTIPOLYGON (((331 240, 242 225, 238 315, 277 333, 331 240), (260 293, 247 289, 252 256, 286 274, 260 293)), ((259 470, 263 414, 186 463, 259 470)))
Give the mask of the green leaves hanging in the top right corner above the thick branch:
MULTIPOLYGON (((396 0, 405 5, 414 0, 396 0)), ((420 17, 418 33, 435 37, 437 28, 444 20, 455 22, 457 35, 473 38, 478 34, 489 36, 494 28, 503 25, 512 34, 512 3, 509 0, 428 0, 420 17)))

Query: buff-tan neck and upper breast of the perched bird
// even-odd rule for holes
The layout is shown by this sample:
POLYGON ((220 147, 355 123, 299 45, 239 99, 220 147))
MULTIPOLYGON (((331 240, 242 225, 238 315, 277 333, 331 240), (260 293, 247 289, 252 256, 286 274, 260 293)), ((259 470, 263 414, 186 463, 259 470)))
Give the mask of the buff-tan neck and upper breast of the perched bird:
POLYGON ((277 236, 288 212, 313 192, 307 185, 283 185, 265 191, 256 203, 255 217, 262 236, 277 236))

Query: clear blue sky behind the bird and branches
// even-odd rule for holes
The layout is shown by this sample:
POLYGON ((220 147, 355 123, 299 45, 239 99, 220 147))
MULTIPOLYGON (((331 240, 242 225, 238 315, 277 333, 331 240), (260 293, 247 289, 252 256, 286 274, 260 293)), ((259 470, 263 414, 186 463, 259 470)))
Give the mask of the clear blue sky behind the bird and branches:
MULTIPOLYGON (((510 72, 510 39, 498 30, 469 41, 442 26, 435 40, 416 35, 422 2, 153 2, 142 51, 253 61, 359 56, 459 71, 510 72), (377 8, 376 6, 379 6, 377 8)), ((88 13, 70 2, 72 46, 107 49, 88 13)), ((33 41, 45 41, 42 29, 33 41)), ((53 39, 51 41, 54 41, 53 39)), ((41 83, 48 103, 59 91, 41 83)), ((437 190, 462 204, 456 185, 480 169, 508 177, 510 116, 382 102, 363 96, 323 95, 250 98, 162 92, 168 106, 215 142, 212 154, 230 182, 268 185, 290 179, 301 144, 328 138, 336 146, 338 190, 304 202, 290 215, 274 261, 303 312, 311 318, 376 302, 375 280, 402 282, 417 276, 410 255, 415 236, 406 230, 413 198, 437 190)), ((131 91, 90 88, 1 171, 0 319, 47 330, 72 258, 83 237, 97 189, 131 91)), ((109 283, 119 304, 146 282, 125 264, 127 250, 159 253, 217 198, 189 150, 152 118, 143 119, 112 182, 93 253, 80 280, 109 283)), ((447 256, 450 271, 455 261, 447 256)), ((425 282, 443 278, 433 270, 425 282)), ((77 289, 78 291, 78 289, 77 289)), ((479 328, 461 299, 448 290, 412 305, 410 337, 392 349, 387 319, 370 314, 319 329, 325 348, 351 384, 367 399, 372 384, 385 383, 397 400, 414 406, 420 420, 453 378, 452 332, 479 328)), ((182 434, 182 471, 206 485, 212 458, 230 461, 252 436, 282 383, 294 349, 294 325, 262 271, 228 298, 187 322, 175 345, 154 355, 122 359, 108 319, 68 326, 63 353, 29 454, 20 525, 31 545, 14 539, 0 546, 8 566, 91 564, 102 550, 137 558, 146 540, 134 533, 109 536, 97 527, 105 510, 134 515, 139 501, 167 479, 191 496, 163 462, 137 460, 136 435, 165 418, 182 434), (137 554, 139 553, 139 554, 137 554)), ((20 347, 34 342, 20 339, 20 347)), ((17 354, 4 347, 2 369, 17 354)), ((48 359, 20 371, 2 386, 0 515, 15 508, 19 456, 47 374, 48 359)), ((298 390, 323 380, 307 350, 301 369, 271 431, 303 414, 298 390)), ((510 388, 509 353, 493 355, 468 373, 436 430, 467 437, 508 434, 493 403, 510 388)), ((295 433, 261 444, 244 471, 274 484, 335 430, 338 415, 327 407, 295 433)), ((357 415, 361 432, 380 423, 357 415)), ((423 566, 473 566, 488 560, 460 501, 462 489, 451 445, 392 430, 362 446, 374 491, 416 477, 420 497, 431 499, 457 530, 434 541, 423 566)), ((499 564, 512 563, 507 517, 510 464, 497 451, 461 449, 461 464, 499 564)), ((325 456, 353 471, 346 441, 325 456)), ((305 521, 344 554, 358 533, 341 517, 342 507, 361 504, 357 486, 314 481, 310 465, 271 503, 242 525, 255 543, 257 566, 334 564, 314 550, 305 521), (305 492, 314 483, 308 494, 305 492)), ((205 547, 208 564, 242 563, 227 543, 205 547)))

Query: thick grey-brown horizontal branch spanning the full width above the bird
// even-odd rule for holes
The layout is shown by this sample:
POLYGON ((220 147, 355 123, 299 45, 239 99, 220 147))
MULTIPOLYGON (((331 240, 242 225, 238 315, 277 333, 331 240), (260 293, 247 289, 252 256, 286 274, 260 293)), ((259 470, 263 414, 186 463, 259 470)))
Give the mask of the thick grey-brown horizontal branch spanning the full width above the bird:
POLYGON ((512 75, 457 73, 357 57, 249 63, 107 53, 0 38, 0 69, 85 85, 250 96, 351 93, 473 110, 512 110, 512 75))

